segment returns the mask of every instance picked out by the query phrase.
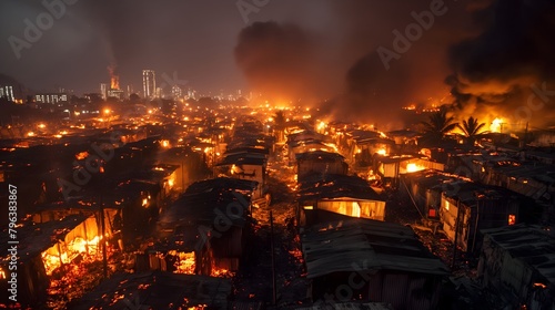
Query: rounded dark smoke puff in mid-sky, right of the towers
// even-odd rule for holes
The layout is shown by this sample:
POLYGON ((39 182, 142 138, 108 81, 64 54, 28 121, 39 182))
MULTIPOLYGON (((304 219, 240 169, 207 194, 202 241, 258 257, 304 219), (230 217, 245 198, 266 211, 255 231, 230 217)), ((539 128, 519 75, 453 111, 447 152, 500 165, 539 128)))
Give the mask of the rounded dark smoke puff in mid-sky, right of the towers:
POLYGON ((235 60, 251 86, 274 102, 307 100, 320 91, 316 42, 296 24, 255 22, 239 34, 235 60))

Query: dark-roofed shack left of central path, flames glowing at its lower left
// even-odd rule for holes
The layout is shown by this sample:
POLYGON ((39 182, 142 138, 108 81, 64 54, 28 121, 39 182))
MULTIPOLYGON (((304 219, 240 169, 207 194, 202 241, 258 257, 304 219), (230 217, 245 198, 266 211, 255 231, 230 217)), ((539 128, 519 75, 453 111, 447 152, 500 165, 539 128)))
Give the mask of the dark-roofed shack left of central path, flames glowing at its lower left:
MULTIPOLYGON (((148 252, 151 269, 153 256, 173 258, 175 272, 219 275, 235 271, 251 234, 250 207, 255 182, 214 178, 192 184, 162 215, 160 232, 165 246, 148 252)), ((168 264, 167 264, 168 265, 168 264)))

